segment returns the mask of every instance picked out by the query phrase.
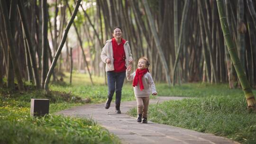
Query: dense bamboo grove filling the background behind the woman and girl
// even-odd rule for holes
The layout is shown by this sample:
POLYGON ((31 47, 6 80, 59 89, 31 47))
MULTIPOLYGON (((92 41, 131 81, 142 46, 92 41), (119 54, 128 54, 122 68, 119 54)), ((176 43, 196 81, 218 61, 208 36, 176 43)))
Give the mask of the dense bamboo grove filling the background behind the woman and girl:
MULTIPOLYGON (((228 27, 256 87, 256 1, 223 0, 228 27)), ((240 86, 216 0, 1 0, 0 87, 47 88, 60 72, 105 76, 101 49, 120 26, 136 67, 147 56, 155 81, 240 86), (6 82, 3 82, 6 81, 6 82), (17 81, 16 86, 14 81, 17 81)), ((71 80, 70 80, 71 82, 71 80)))

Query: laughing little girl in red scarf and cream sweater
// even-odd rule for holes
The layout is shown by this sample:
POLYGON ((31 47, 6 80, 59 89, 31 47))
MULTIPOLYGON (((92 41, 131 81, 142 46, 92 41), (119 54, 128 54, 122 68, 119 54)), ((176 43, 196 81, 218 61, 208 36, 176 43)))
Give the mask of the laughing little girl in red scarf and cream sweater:
POLYGON ((128 81, 132 81, 134 94, 137 99, 137 122, 147 123, 147 108, 149 104, 150 92, 157 95, 155 83, 148 71, 149 62, 146 57, 139 58, 136 72, 130 74, 132 66, 129 65, 126 70, 128 81), (143 120, 142 120, 143 117, 143 120))

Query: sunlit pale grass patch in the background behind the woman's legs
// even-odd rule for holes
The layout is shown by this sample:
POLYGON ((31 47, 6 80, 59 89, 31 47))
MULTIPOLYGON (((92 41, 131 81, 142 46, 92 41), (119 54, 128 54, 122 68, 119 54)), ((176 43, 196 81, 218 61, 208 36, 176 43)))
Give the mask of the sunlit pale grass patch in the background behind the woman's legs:
MULTIPOLYGON (((88 74, 73 73, 72 85, 69 84, 69 73, 64 73, 63 84, 52 84, 50 90, 64 91, 79 96, 82 99, 91 99, 91 103, 105 102, 108 95, 108 86, 105 85, 103 77, 92 77, 94 85, 91 85, 88 74)), ((115 95, 114 98, 115 99, 115 95)), ((124 84, 122 91, 122 101, 136 100, 131 83, 124 84)))

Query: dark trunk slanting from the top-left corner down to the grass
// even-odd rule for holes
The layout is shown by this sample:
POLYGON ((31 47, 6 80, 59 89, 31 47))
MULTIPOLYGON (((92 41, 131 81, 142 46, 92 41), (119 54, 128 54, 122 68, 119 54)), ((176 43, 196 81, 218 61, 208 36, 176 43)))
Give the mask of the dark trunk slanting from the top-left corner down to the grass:
POLYGON ((12 65, 14 68, 15 76, 18 81, 18 90, 24 90, 23 81, 21 79, 21 72, 18 67, 18 57, 15 52, 15 50, 16 50, 15 42, 14 42, 14 38, 13 38, 12 32, 11 32, 11 31, 14 31, 14 29, 11 29, 9 18, 8 18, 8 10, 7 10, 8 7, 6 5, 5 0, 1 0, 0 5, 1 5, 2 13, 3 13, 4 26, 5 26, 5 31, 6 31, 6 37, 8 40, 7 42, 8 42, 8 46, 9 46, 9 52, 10 52, 10 56, 11 56, 11 60, 12 60, 12 65))

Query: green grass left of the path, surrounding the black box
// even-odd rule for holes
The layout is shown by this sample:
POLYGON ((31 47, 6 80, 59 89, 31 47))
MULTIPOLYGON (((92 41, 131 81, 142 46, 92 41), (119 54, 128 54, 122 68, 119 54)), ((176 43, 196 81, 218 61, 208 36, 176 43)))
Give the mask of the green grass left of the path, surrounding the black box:
MULTIPOLYGON (((55 89, 51 89, 48 95, 31 85, 27 85, 27 91, 23 92, 0 90, 0 144, 119 144, 116 136, 92 119, 54 115, 57 111, 86 104, 80 97, 83 91, 75 95, 76 86, 68 87, 64 82, 51 84, 55 89), (30 117, 30 100, 35 98, 50 99, 50 115, 30 117)), ((91 87, 91 90, 101 93, 96 87, 91 87)), ((106 99, 95 97, 93 92, 91 95, 94 103, 106 99)))

